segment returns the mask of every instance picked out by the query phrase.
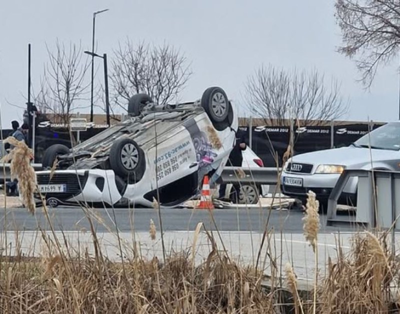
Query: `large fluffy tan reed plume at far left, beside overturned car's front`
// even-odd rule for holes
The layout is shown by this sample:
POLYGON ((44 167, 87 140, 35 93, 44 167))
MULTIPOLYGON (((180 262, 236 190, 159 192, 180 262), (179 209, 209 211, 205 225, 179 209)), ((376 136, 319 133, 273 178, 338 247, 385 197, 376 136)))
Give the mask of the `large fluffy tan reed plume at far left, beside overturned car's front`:
POLYGON ((33 193, 36 190, 36 175, 30 164, 33 158, 32 149, 30 149, 24 141, 18 141, 15 137, 9 136, 4 140, 14 147, 3 158, 3 162, 9 162, 11 168, 11 180, 18 180, 18 188, 23 204, 30 213, 34 213, 36 205, 33 193))

